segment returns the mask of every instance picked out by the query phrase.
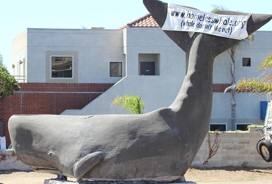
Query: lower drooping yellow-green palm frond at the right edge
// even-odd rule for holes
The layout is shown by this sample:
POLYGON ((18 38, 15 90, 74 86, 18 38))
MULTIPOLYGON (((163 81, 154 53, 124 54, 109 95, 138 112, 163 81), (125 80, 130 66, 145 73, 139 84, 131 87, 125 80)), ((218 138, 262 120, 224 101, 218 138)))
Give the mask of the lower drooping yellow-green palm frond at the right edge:
POLYGON ((242 78, 236 84, 229 86, 225 89, 224 92, 227 92, 230 89, 236 89, 240 92, 245 93, 263 93, 262 95, 267 94, 272 91, 271 80, 265 80, 263 78, 242 78))

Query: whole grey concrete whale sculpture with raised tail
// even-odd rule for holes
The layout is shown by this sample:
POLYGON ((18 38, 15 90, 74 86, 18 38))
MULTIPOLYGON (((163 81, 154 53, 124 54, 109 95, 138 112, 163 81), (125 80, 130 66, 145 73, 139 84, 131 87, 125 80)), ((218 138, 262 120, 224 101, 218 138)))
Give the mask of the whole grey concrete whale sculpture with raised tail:
MULTIPOLYGON (((162 26, 167 3, 144 0, 162 26)), ((216 11, 217 14, 245 15, 216 11)), ((248 34, 270 21, 252 14, 248 34)), ((8 129, 14 151, 37 171, 95 180, 181 179, 209 130, 214 58, 239 40, 164 31, 186 52, 188 70, 173 104, 141 115, 14 115, 8 129), (203 49, 205 48, 205 49, 203 49)))

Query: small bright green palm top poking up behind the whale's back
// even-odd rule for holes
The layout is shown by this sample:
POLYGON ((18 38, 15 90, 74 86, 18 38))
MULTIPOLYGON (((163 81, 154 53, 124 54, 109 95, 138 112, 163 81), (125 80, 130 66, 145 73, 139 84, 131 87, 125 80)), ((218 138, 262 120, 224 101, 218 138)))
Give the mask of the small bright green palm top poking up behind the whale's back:
POLYGON ((130 112, 131 114, 143 114, 144 113, 144 102, 140 102, 142 96, 125 94, 124 97, 119 95, 113 100, 112 106, 117 107, 121 104, 120 108, 125 109, 125 111, 130 112))

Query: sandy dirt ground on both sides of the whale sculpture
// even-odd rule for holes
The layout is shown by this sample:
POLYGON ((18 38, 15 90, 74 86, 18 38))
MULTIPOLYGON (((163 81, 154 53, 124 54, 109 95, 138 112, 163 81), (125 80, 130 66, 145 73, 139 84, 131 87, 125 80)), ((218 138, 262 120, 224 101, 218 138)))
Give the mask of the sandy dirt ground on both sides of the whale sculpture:
MULTIPOLYGON (((45 179, 56 178, 56 175, 36 173, 33 171, 0 170, 0 184, 43 184, 45 179)), ((187 181, 197 184, 271 184, 272 167, 216 167, 216 168, 190 168, 185 174, 187 181)), ((68 180, 76 181, 68 178, 68 180)))

